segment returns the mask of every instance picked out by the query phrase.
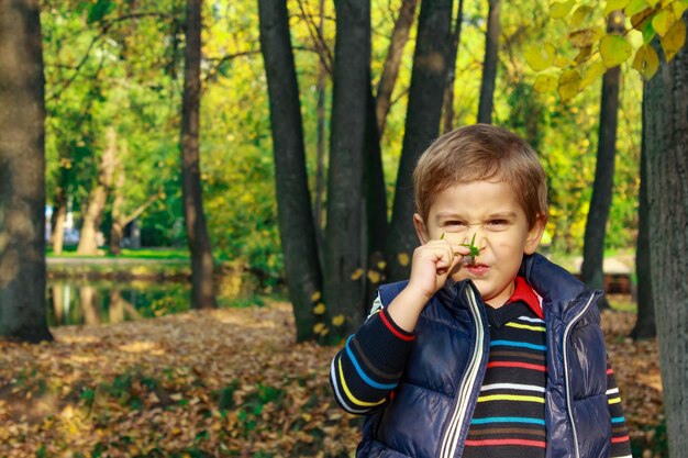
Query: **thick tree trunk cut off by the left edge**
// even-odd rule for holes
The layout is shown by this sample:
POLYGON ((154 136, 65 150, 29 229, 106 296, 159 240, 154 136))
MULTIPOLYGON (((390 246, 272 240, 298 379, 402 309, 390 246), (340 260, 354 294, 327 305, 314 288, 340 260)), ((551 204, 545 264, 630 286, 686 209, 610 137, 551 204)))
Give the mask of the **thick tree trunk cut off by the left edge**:
POLYGON ((0 337, 52 340, 45 306, 45 105, 37 0, 0 0, 0 337))

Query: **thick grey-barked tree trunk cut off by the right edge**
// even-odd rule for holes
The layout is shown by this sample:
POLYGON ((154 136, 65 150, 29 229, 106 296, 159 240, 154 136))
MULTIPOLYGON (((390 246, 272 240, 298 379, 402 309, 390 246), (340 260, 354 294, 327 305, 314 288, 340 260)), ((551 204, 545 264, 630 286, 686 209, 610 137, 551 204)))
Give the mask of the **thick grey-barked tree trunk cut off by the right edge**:
POLYGON ((645 88, 652 291, 669 457, 679 458, 688 449, 688 46, 670 64, 662 57, 645 88))

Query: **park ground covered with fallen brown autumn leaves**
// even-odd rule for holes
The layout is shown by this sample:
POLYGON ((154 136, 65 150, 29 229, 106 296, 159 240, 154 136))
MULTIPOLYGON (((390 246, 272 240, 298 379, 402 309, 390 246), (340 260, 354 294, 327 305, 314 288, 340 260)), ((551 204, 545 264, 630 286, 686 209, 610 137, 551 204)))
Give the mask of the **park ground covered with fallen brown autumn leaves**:
MULTIPOLYGON (((612 301, 613 303, 613 301, 612 301)), ((656 340, 606 312, 634 456, 663 457, 656 340)), ((335 347, 297 344, 289 304, 52 329, 0 343, 0 457, 349 457, 360 418, 330 393, 335 347)))

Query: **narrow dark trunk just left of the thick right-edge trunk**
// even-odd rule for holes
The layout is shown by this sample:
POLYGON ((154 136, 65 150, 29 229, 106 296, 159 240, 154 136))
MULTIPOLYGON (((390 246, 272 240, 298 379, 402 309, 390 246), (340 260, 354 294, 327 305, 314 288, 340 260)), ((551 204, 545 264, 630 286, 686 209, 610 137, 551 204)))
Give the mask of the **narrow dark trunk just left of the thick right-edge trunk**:
MULTIPOLYGON (((644 99, 644 97, 643 97, 644 99)), ((643 112, 645 111, 643 100, 643 112)), ((641 186, 639 190, 637 241, 635 244, 635 277, 637 278, 637 321, 631 332, 635 340, 654 338, 657 335, 655 325, 655 305, 652 300, 652 268, 650 265, 650 221, 647 212, 647 154, 645 153, 645 126, 641 145, 641 186)))

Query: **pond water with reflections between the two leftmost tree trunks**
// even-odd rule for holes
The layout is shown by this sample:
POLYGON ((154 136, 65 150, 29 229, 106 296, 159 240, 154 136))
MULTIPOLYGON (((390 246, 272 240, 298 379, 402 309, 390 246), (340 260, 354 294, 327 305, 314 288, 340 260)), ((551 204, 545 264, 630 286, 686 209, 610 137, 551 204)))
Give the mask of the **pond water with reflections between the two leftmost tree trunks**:
POLYGON ((182 312, 190 288, 181 282, 48 280, 49 326, 121 323, 182 312))

